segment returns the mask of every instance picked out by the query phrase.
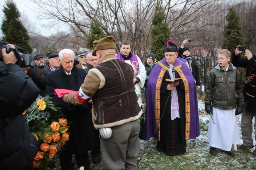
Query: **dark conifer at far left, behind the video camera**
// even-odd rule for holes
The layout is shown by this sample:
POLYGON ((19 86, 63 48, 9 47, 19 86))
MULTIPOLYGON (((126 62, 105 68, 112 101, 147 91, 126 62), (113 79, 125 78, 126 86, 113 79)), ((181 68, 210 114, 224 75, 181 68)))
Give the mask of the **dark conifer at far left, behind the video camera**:
POLYGON ((20 12, 13 0, 6 0, 4 5, 4 19, 1 24, 2 39, 11 44, 22 47, 24 54, 31 54, 30 37, 27 29, 19 20, 20 12))

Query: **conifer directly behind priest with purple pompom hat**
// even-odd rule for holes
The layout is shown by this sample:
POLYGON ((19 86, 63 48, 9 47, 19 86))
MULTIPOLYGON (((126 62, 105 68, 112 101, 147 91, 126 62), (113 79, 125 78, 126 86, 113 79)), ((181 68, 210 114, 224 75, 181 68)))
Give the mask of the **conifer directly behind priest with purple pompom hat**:
POLYGON ((170 39, 170 28, 164 20, 166 15, 162 8, 158 8, 152 19, 150 52, 154 53, 156 60, 164 58, 164 45, 170 39))

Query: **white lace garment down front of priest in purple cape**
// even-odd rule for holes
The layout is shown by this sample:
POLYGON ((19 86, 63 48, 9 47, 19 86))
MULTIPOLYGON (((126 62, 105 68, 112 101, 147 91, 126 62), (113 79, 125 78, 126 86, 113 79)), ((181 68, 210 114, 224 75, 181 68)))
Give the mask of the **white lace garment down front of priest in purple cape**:
MULTIPOLYGON (((175 78, 174 72, 172 72, 172 64, 169 64, 170 68, 168 68, 171 79, 175 78)), ((172 100, 171 100, 171 119, 174 120, 176 117, 180 118, 180 108, 178 103, 178 94, 176 88, 171 92, 172 100)))

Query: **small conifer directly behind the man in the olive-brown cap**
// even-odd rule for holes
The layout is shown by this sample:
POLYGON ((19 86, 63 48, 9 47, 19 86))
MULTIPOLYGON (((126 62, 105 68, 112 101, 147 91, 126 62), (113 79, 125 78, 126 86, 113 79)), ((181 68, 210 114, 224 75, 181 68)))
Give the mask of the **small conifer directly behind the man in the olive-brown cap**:
POLYGON ((88 49, 94 49, 93 47, 94 40, 99 40, 106 37, 106 34, 104 33, 101 27, 102 25, 100 24, 100 22, 94 18, 91 22, 91 30, 86 42, 86 47, 88 49))

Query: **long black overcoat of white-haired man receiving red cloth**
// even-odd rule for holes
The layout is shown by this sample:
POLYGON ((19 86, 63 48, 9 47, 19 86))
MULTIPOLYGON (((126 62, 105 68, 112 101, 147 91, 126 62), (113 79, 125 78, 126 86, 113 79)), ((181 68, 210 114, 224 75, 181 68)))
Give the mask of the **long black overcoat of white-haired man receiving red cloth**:
POLYGON ((67 116, 67 120, 72 122, 70 126, 71 135, 64 150, 64 152, 71 154, 88 152, 98 144, 92 124, 90 108, 88 103, 82 106, 65 103, 62 98, 54 95, 54 89, 63 88, 78 91, 84 82, 85 76, 85 70, 75 66, 71 70, 70 82, 68 82, 68 75, 64 72, 62 66, 58 70, 49 72, 46 76, 46 92, 53 96, 53 101, 62 108, 63 113, 67 116))

